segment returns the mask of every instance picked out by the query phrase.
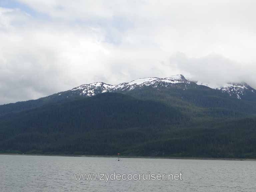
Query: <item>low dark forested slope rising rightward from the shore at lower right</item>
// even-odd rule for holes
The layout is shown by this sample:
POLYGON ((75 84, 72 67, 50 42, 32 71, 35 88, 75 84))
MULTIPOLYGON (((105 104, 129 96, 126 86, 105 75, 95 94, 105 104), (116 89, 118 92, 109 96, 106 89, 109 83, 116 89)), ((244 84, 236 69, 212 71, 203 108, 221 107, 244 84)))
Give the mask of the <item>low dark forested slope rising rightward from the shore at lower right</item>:
POLYGON ((166 132, 160 139, 127 149, 145 156, 256 158, 256 118, 204 124, 166 132))

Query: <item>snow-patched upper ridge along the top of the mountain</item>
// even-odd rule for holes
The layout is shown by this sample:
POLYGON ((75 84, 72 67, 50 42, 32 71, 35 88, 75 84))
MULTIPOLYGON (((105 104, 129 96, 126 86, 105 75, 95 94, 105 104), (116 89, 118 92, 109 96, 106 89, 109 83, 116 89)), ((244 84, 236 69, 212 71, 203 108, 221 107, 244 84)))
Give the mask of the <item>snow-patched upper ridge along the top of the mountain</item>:
POLYGON ((80 85, 75 87, 69 91, 61 92, 55 94, 55 96, 59 97, 70 97, 70 96, 94 96, 99 93, 105 92, 127 92, 131 90, 141 89, 144 87, 173 87, 180 89, 187 88, 197 88, 201 87, 201 85, 207 86, 211 89, 221 91, 223 93, 228 93, 232 97, 236 97, 238 99, 246 99, 246 100, 254 100, 256 99, 256 90, 250 87, 246 83, 227 83, 225 85, 217 85, 217 84, 209 84, 192 82, 187 80, 183 75, 174 75, 167 78, 157 78, 157 77, 148 77, 148 78, 140 78, 128 83, 121 83, 117 85, 110 85, 103 82, 95 82, 90 84, 80 85))

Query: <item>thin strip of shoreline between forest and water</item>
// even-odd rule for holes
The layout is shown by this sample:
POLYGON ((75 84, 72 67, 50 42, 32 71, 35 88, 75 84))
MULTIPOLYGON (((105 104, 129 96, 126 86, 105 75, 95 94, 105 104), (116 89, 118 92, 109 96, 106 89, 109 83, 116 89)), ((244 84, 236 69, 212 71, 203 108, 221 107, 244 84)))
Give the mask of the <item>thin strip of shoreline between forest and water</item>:
MULTIPOLYGON (((117 158, 117 155, 65 155, 65 154, 21 154, 21 153, 0 153, 0 155, 26 155, 26 156, 61 156, 61 157, 106 157, 117 158)), ((120 156, 120 158, 140 159, 190 159, 190 160, 226 160, 226 161, 256 161, 253 158, 212 158, 212 157, 154 157, 154 156, 120 156)))

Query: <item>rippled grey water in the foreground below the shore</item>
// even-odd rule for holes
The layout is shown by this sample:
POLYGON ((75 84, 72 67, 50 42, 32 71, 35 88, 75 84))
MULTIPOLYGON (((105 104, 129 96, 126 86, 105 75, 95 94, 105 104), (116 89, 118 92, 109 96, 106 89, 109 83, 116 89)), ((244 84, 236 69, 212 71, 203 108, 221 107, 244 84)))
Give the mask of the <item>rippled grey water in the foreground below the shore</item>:
MULTIPOLYGON (((168 177, 168 176, 167 176, 168 177)), ((113 177, 112 177, 113 178, 113 177)), ((135 177, 136 179, 137 177, 135 177)), ((0 191, 254 192, 256 161, 0 155, 0 191), (75 180, 74 174, 179 174, 182 180, 75 180)))

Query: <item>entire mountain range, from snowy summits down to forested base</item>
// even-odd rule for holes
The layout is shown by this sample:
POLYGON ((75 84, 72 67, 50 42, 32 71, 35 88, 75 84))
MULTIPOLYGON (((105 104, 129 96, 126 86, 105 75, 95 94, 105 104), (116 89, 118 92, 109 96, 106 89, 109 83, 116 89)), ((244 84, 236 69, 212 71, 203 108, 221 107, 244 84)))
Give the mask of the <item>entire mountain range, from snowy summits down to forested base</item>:
POLYGON ((256 158, 255 90, 183 75, 0 106, 0 152, 256 158), (239 97, 238 97, 239 95, 239 97))

